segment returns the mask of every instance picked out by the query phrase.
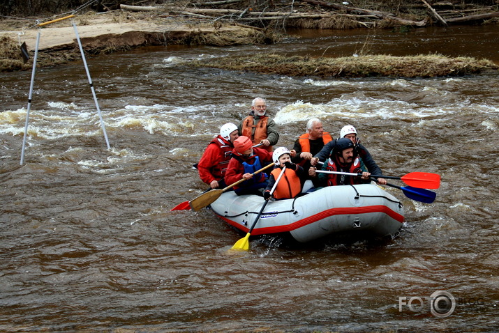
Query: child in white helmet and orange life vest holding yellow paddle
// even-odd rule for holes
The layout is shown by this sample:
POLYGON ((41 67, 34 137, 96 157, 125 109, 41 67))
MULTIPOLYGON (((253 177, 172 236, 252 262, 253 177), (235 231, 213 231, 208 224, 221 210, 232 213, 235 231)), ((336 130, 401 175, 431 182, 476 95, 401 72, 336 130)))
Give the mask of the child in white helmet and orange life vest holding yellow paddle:
POLYGON ((274 196, 276 200, 281 200, 292 199, 301 194, 300 177, 302 173, 304 173, 304 170, 301 166, 291 162, 291 154, 292 152, 285 147, 279 147, 274 150, 272 160, 274 160, 276 166, 274 167, 274 170, 271 171, 269 185, 267 185, 265 192, 263 192, 265 200, 269 200, 271 196, 270 191, 272 187, 274 187, 274 184, 276 183, 276 180, 281 174, 284 166, 286 169, 272 196, 274 196))

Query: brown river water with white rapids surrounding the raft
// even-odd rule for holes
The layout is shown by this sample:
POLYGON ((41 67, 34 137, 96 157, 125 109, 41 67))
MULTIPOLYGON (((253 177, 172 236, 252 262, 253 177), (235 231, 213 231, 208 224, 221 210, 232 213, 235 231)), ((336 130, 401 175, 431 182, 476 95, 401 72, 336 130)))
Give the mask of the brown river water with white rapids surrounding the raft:
MULTIPOLYGON (((442 53, 499 63, 499 26, 292 31, 278 45, 147 47, 0 73, 0 331, 498 332, 499 75, 316 79, 194 69, 181 61, 276 52, 442 53), (439 173, 435 202, 399 189, 389 240, 296 247, 251 240, 209 210, 170 212, 207 185, 192 168, 228 121, 267 98, 292 147, 312 117, 345 124, 385 174, 439 173), (440 318, 430 296, 451 293, 440 318)), ((43 36, 42 36, 43 38, 43 36)), ((403 186, 399 180, 392 183, 403 186)))

